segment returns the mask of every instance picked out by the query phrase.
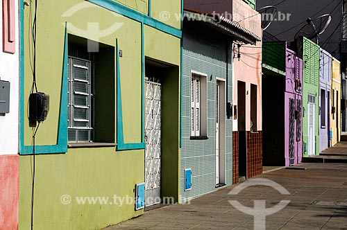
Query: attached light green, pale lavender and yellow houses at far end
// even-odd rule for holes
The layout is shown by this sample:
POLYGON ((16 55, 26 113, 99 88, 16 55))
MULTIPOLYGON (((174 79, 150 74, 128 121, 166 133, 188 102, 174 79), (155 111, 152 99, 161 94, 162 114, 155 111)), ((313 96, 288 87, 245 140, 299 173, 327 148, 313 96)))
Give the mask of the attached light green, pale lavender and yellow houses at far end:
POLYGON ((305 37, 291 46, 303 59, 303 155, 319 155, 340 141, 340 62, 305 37))

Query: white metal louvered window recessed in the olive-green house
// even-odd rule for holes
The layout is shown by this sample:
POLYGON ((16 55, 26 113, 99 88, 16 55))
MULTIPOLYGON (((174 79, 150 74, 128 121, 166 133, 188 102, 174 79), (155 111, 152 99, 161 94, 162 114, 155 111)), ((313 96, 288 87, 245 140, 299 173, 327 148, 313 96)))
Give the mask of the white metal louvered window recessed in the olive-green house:
POLYGON ((92 62, 69 57, 69 142, 92 142, 92 62))

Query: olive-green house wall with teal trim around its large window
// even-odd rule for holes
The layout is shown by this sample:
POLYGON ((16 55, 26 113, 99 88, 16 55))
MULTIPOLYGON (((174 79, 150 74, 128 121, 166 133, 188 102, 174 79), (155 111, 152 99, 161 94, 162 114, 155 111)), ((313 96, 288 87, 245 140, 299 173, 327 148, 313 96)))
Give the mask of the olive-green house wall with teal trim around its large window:
MULTIPOLYGON (((99 1, 101 2, 101 1, 99 1)), ((109 3, 109 1, 102 1, 109 3)), ((134 10, 135 5, 130 1, 121 1, 129 4, 134 10)), ((149 1, 142 1, 148 3, 149 1)), ((173 1, 175 4, 181 1, 173 1)), ((23 3, 22 3, 22 6, 23 3)), ((180 167, 180 36, 168 24, 155 21, 155 26, 146 26, 141 20, 148 17, 144 10, 136 8, 134 18, 122 15, 124 10, 106 8, 108 5, 97 6, 91 1, 64 0, 59 4, 53 1, 42 1, 37 6, 37 88, 50 96, 49 115, 40 124, 36 136, 35 156, 35 193, 33 208, 33 224, 35 230, 46 229, 101 229, 110 224, 128 220, 144 211, 135 211, 133 200, 135 197, 135 184, 144 182, 144 149, 133 150, 133 143, 142 143, 144 134, 142 105, 144 97, 142 87, 144 81, 144 62, 147 57, 167 65, 168 71, 163 94, 163 121, 162 127, 162 195, 174 197, 178 201, 180 195, 179 170, 180 167), (84 4, 84 5, 81 5, 84 4), (87 6, 87 7, 85 7, 87 6), (71 9, 74 13, 71 14, 71 9), (77 10, 76 10, 77 9, 77 10), (144 15, 142 15, 144 12, 144 15), (97 33, 88 32, 89 21, 99 23, 99 28, 112 30, 103 37, 95 37, 97 33), (67 34, 65 25, 67 22, 67 34), (160 29, 159 29, 160 27, 160 29), (76 29, 78 28, 78 29, 76 29), (164 32, 163 30, 167 30, 164 32), (87 31, 87 32, 85 32, 87 31), (172 32, 174 31, 174 32, 172 32), (56 150, 58 139, 67 133, 60 132, 60 118, 67 119, 67 109, 62 107, 62 85, 67 81, 65 60, 66 37, 76 35, 84 39, 98 41, 101 45, 111 46, 115 53, 106 53, 103 58, 107 60, 100 64, 103 72, 111 74, 111 79, 100 78, 96 90, 103 91, 100 95, 114 96, 105 100, 97 112, 104 112, 105 120, 99 120, 99 126, 107 126, 106 130, 98 129, 101 147, 92 145, 69 145, 67 152, 51 152, 56 150), (122 57, 117 63, 116 39, 122 57), (116 63, 116 64, 115 64, 116 63), (119 64, 119 69, 117 69, 119 64), (109 71, 108 71, 108 68, 109 71), (117 73, 121 83, 121 98, 117 97, 117 73), (110 83, 111 82, 111 83, 110 83), (109 85, 107 85, 109 84, 109 85), (173 87, 169 88, 171 85, 173 87), (169 99, 167 99, 169 98, 169 99), (117 117, 117 100, 122 102, 122 117, 117 117), (115 107, 115 112, 108 113, 105 107, 115 107), (106 122, 110 121, 110 122, 106 122), (124 143, 128 149, 117 151, 117 124, 122 123, 124 143), (105 145, 107 142, 107 145, 105 145), (113 146, 110 145, 113 143, 113 146), (53 147, 51 147, 53 146, 53 147), (54 154, 52 154, 54 153, 54 154), (61 197, 69 195, 70 204, 62 204, 61 197), (128 204, 119 206, 114 204, 113 197, 129 199, 128 204), (105 204, 77 204, 76 197, 108 197, 105 204), (112 204, 111 204, 112 203, 112 204)), ((22 30, 22 140, 21 150, 26 150, 20 156, 19 170, 19 229, 30 229, 31 226, 31 189, 33 156, 31 153, 32 135, 35 127, 28 123, 28 97, 31 93, 33 80, 33 45, 32 25, 35 5, 25 7, 23 13, 22 30), (25 148, 24 148, 25 147, 25 148)), ((158 11, 155 5, 151 10, 158 11)), ((179 8, 167 8, 172 15, 180 14, 179 8)), ((149 20, 147 20, 148 22, 149 20)), ((174 24, 174 23, 173 23, 174 24)), ((97 80, 97 79, 96 79, 97 80)), ((100 114, 99 114, 100 115, 100 114)), ((66 127, 65 127, 66 128, 66 127)), ((64 143, 62 143, 64 145, 64 143)), ((67 143, 65 143, 65 148, 67 143)))

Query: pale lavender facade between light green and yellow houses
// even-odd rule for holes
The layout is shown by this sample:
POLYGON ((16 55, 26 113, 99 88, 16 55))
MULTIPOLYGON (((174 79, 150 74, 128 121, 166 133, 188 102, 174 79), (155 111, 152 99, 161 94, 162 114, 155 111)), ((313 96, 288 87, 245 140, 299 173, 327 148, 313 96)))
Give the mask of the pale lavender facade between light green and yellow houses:
POLYGON ((321 49, 319 67, 319 152, 330 147, 330 87, 332 81, 332 56, 321 49))

